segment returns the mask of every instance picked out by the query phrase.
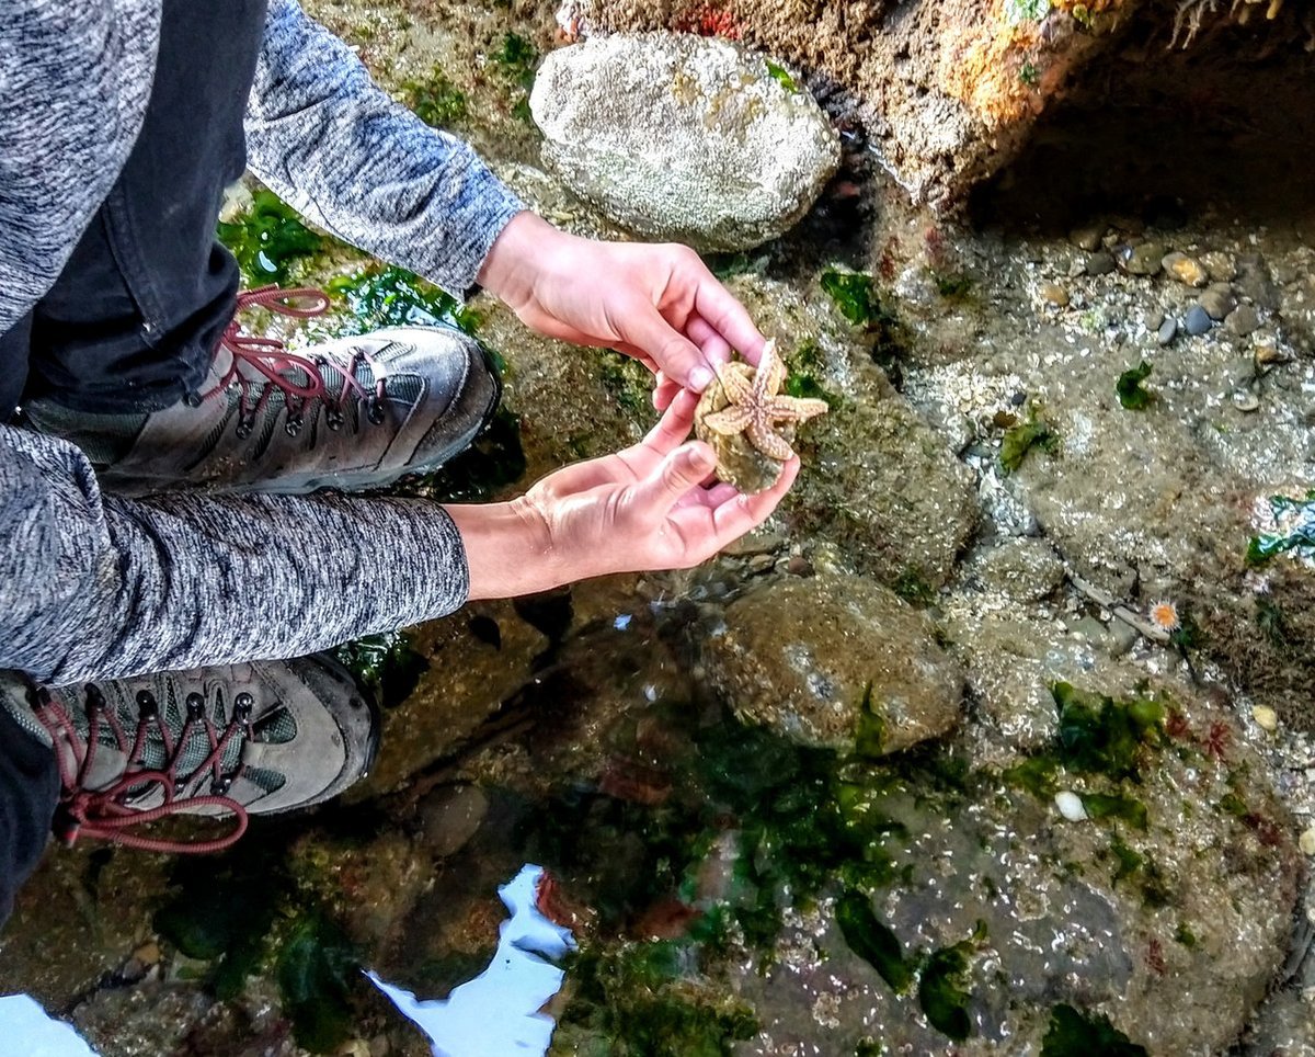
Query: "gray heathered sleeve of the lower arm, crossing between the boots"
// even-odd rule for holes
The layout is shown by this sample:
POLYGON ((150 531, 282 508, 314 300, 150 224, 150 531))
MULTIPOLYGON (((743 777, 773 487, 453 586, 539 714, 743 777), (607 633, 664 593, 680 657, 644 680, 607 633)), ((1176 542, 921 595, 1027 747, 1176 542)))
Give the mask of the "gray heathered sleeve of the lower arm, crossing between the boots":
POLYGON ((443 616, 460 536, 422 500, 103 496, 72 445, 0 426, 0 669, 62 684, 296 657, 443 616))

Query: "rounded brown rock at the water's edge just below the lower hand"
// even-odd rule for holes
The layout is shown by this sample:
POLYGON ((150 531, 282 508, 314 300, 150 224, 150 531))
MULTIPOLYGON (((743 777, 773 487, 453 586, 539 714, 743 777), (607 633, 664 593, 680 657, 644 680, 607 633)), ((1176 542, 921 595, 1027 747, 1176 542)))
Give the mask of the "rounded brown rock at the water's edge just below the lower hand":
POLYGON ((704 646, 743 717, 802 745, 893 753, 949 731, 963 677, 926 616, 859 577, 773 583, 732 603, 704 646))

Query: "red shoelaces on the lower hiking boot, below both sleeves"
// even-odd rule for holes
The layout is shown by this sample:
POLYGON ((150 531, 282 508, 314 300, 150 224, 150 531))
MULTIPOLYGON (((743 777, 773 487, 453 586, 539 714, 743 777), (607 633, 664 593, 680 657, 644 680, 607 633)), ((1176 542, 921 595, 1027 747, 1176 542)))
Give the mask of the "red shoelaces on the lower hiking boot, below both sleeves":
POLYGON ((208 715, 201 695, 188 695, 187 719, 175 738, 159 715, 155 698, 143 690, 137 695, 137 732, 129 740, 114 711, 107 707, 100 690, 88 683, 84 694, 88 724, 85 737, 79 735, 63 704, 57 702, 47 690, 33 687, 29 691, 33 711, 41 725, 50 732, 55 745, 60 795, 55 811, 54 831, 66 846, 72 846, 79 837, 93 837, 147 852, 204 853, 227 848, 246 832, 246 808, 231 796, 224 795, 233 779, 241 774, 241 767, 226 775, 221 761, 234 737, 251 737, 249 695, 238 695, 233 715, 222 733, 208 715), (246 702, 242 700, 243 696, 247 696, 246 702), (84 785, 96 762, 103 724, 113 735, 116 746, 118 752, 124 753, 128 763, 124 774, 105 788, 87 790, 84 785), (142 766, 142 752, 153 727, 164 745, 166 758, 162 767, 142 766), (181 754, 199 729, 205 732, 210 746, 209 754, 189 774, 180 775, 178 769, 181 754), (180 785, 193 785, 196 778, 205 773, 209 773, 210 777, 210 794, 187 795, 184 792, 179 796, 180 785), (147 795, 151 792, 151 786, 156 786, 163 794, 162 804, 145 811, 129 806, 130 798, 139 799, 147 795), (233 828, 221 837, 201 841, 171 841, 129 832, 133 827, 201 806, 218 807, 233 815, 233 828))

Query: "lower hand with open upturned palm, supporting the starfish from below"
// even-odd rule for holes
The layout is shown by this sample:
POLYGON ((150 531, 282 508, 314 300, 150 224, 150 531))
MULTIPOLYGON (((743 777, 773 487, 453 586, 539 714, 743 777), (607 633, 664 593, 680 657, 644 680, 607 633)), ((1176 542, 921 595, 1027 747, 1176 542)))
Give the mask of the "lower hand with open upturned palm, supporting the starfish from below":
POLYGON ((704 487, 711 449, 689 436, 681 392, 643 441, 543 478, 512 503, 448 507, 462 532, 469 596, 509 598, 606 573, 685 569, 706 561, 776 509, 798 473, 792 458, 768 491, 704 487))

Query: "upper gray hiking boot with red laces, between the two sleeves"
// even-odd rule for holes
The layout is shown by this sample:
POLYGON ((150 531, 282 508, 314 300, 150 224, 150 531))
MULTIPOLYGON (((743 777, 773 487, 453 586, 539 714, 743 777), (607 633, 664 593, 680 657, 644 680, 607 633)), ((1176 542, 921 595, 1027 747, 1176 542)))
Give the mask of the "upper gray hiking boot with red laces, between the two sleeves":
MULTIPOLYGON (((296 317, 327 304, 317 290, 238 295, 238 311, 296 317)), ((475 438, 498 396, 484 349, 451 328, 394 326, 295 354, 234 320, 200 390, 172 407, 89 415, 45 399, 25 412, 82 448, 107 491, 300 495, 434 470, 475 438)))

